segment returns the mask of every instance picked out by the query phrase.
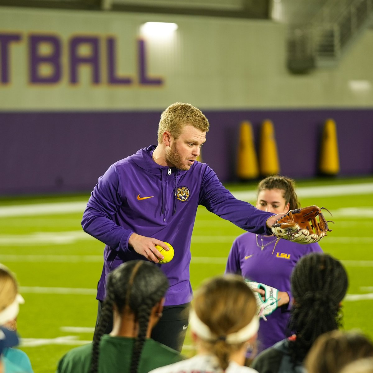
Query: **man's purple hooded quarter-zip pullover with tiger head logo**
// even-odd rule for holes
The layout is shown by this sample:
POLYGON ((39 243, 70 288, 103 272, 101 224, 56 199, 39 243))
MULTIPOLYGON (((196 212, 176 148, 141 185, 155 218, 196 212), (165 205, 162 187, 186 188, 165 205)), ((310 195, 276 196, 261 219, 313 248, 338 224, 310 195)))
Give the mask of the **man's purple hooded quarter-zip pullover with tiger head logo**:
POLYGON ((136 232, 169 242, 175 250, 172 261, 160 265, 170 282, 165 305, 191 301, 190 244, 198 205, 247 231, 270 234, 266 221, 273 214, 233 197, 206 163, 194 162, 188 171, 160 166, 151 157, 155 148, 114 163, 88 200, 82 227, 106 244, 98 300, 104 300, 110 271, 128 260, 146 260, 128 247, 136 232))

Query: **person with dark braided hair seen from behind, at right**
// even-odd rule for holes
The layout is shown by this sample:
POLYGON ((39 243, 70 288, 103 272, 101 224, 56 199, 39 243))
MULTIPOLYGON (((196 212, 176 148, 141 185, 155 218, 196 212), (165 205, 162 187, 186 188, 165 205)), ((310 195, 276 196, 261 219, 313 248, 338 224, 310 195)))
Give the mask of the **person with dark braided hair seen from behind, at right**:
POLYGON ((301 258, 291 275, 292 335, 261 352, 252 367, 260 373, 304 372, 304 358, 317 337, 341 326, 347 287, 347 273, 339 260, 322 253, 301 258))

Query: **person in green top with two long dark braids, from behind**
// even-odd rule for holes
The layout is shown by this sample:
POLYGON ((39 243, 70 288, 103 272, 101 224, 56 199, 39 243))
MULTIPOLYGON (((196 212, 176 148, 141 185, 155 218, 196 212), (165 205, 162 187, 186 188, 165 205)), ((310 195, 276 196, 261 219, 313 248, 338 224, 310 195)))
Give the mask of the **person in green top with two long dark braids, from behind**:
POLYGON ((110 272, 93 343, 69 351, 58 373, 147 373, 183 357, 150 338, 169 282, 154 263, 132 260, 110 272), (113 330, 104 334, 108 320, 113 330))

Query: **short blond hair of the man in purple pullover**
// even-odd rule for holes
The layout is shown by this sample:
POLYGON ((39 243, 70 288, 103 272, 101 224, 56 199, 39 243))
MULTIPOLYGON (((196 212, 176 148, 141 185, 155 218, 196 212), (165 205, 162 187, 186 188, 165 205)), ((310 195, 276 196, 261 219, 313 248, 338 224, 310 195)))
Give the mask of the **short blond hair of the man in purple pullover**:
POLYGON ((184 126, 188 125, 202 132, 207 132, 210 124, 206 116, 197 107, 175 102, 167 107, 161 115, 158 126, 158 143, 162 144, 165 131, 170 132, 175 140, 178 139, 184 126))

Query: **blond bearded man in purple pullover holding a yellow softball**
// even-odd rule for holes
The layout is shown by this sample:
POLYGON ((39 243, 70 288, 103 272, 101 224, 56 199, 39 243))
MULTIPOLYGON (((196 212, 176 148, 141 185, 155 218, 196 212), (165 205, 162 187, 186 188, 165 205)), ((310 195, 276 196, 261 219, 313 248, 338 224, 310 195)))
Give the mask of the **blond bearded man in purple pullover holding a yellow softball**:
POLYGON ((167 107, 158 144, 114 163, 99 178, 82 220, 84 231, 106 244, 98 316, 111 270, 128 260, 159 263, 163 256, 155 245, 168 250, 167 241, 173 246, 173 260, 161 266, 170 288, 152 338, 179 351, 192 298, 190 244, 198 205, 259 234, 271 234, 276 220, 274 214, 237 200, 206 163, 197 161, 207 131, 209 121, 201 110, 178 102, 167 107))

